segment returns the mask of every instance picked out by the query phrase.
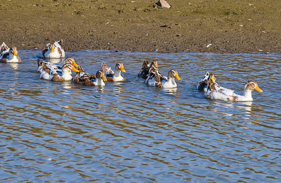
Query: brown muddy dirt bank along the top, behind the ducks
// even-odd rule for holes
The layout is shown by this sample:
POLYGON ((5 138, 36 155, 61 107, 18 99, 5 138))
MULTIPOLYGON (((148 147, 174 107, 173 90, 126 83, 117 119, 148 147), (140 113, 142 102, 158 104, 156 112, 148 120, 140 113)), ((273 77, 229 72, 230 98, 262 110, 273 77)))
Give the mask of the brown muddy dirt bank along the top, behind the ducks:
POLYGON ((281 1, 3 0, 0 42, 65 50, 280 53, 281 1), (211 45, 210 45, 211 44, 211 45))

